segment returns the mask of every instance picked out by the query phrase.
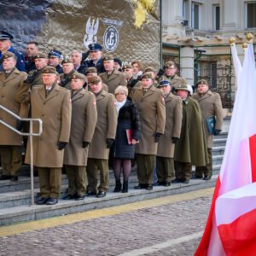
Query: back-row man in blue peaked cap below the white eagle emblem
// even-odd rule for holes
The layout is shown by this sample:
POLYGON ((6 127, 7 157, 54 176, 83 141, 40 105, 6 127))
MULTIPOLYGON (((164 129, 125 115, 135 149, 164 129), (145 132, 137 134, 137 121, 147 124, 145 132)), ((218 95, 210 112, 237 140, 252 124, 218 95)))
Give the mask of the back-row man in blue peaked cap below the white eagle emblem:
POLYGON ((101 44, 89 44, 90 49, 90 61, 87 61, 88 67, 96 67, 97 73, 106 72, 103 66, 102 60, 102 45, 101 44))

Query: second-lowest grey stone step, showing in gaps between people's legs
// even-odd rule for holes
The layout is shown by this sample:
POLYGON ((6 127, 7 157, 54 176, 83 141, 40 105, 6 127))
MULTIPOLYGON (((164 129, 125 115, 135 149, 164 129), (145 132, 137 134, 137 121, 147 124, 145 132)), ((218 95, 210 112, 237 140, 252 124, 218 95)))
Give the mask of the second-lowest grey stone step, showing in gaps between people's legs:
MULTIPOLYGON (((220 169, 220 165, 213 166, 213 174, 218 174, 220 169)), ((195 172, 195 166, 192 168, 192 173, 195 172)), ((155 180, 156 181, 156 180, 155 180)), ((109 179, 109 189, 108 191, 113 191, 115 185, 115 180, 113 177, 109 179)), ((133 188, 137 185, 137 174, 136 172, 131 173, 131 177, 129 178, 129 187, 133 188)), ((39 189, 35 189, 34 196, 36 196, 39 192, 39 189)), ((61 197, 67 195, 67 184, 61 186, 61 197)), ((0 193, 0 209, 8 208, 8 207, 19 207, 22 205, 30 205, 31 204, 31 190, 24 189, 20 191, 11 191, 0 193)))

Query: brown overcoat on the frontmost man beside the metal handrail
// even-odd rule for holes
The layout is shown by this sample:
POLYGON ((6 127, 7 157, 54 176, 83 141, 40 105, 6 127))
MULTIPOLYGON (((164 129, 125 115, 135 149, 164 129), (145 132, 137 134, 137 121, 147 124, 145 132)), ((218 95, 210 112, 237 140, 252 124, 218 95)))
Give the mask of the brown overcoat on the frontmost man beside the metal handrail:
MULTIPOLYGON (((59 150, 57 143, 69 141, 72 110, 70 91, 55 84, 49 96, 45 97, 44 85, 28 89, 27 84, 21 85, 16 99, 19 102, 31 102, 32 118, 43 121, 43 133, 39 137, 33 137, 34 166, 61 167, 64 150, 59 150)), ((34 125, 33 131, 38 131, 38 125, 34 125)), ((30 163, 29 141, 25 162, 30 163)))

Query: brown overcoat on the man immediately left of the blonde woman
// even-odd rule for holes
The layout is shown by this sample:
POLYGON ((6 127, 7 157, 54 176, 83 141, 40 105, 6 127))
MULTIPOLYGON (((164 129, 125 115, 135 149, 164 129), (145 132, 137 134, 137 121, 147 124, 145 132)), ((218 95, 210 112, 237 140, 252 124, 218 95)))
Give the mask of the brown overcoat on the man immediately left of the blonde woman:
POLYGON ((98 118, 88 157, 108 160, 109 148, 107 148, 106 139, 115 138, 117 126, 117 110, 113 94, 102 90, 96 96, 96 108, 98 118))

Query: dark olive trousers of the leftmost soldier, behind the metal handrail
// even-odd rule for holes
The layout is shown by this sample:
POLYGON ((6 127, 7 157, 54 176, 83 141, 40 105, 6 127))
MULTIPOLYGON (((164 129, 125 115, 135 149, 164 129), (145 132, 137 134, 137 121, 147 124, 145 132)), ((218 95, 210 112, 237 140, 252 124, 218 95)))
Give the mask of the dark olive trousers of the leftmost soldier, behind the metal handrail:
POLYGON ((22 165, 21 146, 0 146, 3 175, 16 175, 22 165))

